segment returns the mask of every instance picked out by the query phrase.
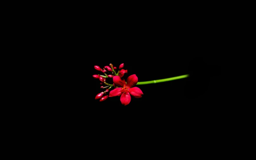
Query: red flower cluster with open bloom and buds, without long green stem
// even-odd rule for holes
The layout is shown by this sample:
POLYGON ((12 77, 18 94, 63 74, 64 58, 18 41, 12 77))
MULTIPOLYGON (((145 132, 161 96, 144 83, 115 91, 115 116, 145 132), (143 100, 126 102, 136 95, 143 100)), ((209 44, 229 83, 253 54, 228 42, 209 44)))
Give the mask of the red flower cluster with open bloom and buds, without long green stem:
POLYGON ((104 92, 96 95, 95 99, 100 99, 99 101, 104 101, 108 97, 120 96, 120 101, 123 105, 128 105, 131 102, 131 96, 135 98, 141 98, 143 93, 138 87, 134 87, 138 83, 138 77, 136 74, 132 74, 127 77, 126 81, 124 75, 128 73, 127 70, 123 69, 124 63, 119 65, 119 70, 112 64, 105 66, 103 69, 99 66, 94 66, 94 68, 104 75, 94 74, 93 78, 100 80, 100 88, 107 88, 104 92), (106 79, 112 79, 113 84, 106 82, 106 79), (110 91, 111 88, 114 88, 110 91), (110 91, 110 92, 109 92, 110 91))

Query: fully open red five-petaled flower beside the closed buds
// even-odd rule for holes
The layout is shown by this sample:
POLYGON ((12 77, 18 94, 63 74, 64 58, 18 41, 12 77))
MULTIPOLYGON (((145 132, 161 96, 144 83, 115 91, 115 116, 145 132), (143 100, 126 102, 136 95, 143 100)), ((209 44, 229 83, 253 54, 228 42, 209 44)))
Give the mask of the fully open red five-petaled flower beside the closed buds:
POLYGON ((138 83, 136 74, 130 75, 126 82, 120 76, 114 76, 113 82, 118 88, 113 89, 109 93, 109 97, 121 96, 120 101, 123 105, 128 105, 131 102, 131 95, 135 98, 142 97, 143 93, 138 87, 134 87, 138 83), (127 84, 126 84, 127 83, 127 84))

